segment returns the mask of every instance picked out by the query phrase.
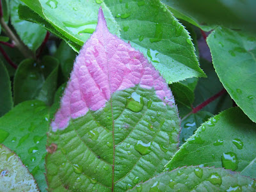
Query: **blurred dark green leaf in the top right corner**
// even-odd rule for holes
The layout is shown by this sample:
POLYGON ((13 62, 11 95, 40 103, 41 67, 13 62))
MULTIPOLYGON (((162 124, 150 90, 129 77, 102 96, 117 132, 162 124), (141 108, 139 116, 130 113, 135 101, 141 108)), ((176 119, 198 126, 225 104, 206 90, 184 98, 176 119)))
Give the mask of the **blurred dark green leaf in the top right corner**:
POLYGON ((196 0, 192 3, 189 0, 162 0, 162 2, 175 10, 173 13, 176 17, 206 31, 216 26, 256 31, 255 1, 234 0, 228 3, 225 0, 196 0))

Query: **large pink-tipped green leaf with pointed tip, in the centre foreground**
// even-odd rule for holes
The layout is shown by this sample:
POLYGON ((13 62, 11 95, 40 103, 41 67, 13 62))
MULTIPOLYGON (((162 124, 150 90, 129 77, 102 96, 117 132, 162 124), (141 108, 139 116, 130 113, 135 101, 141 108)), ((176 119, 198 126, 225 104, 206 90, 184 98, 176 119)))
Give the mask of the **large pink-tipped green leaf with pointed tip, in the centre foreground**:
POLYGON ((109 33, 101 9, 51 127, 49 191, 132 188, 163 171, 180 131, 168 84, 143 54, 109 33))

